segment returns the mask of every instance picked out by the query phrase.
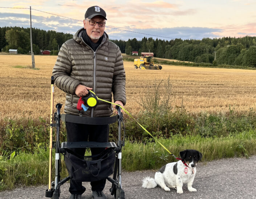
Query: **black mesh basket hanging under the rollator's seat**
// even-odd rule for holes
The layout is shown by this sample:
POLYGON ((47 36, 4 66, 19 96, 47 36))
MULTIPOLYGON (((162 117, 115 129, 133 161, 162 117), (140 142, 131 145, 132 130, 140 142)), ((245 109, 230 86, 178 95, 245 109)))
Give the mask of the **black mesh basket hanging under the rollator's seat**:
POLYGON ((100 154, 79 158, 71 150, 66 149, 64 159, 72 179, 80 182, 93 182, 113 174, 115 152, 107 148, 100 154))

